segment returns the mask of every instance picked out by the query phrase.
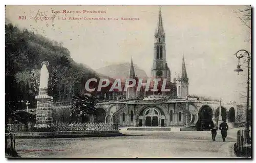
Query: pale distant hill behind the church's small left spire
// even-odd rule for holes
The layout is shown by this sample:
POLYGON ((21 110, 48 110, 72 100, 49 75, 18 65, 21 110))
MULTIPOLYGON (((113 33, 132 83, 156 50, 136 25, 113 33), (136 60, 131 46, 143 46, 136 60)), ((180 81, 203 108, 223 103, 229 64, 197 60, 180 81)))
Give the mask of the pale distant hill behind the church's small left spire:
MULTIPOLYGON (((129 62, 124 62, 120 64, 112 64, 109 66, 104 66, 104 67, 95 69, 95 71, 114 79, 121 78, 122 82, 124 82, 125 79, 129 76, 130 66, 131 64, 129 62)), ((138 67, 136 64, 134 64, 134 69, 135 69, 135 75, 138 78, 143 78, 143 79, 148 78, 145 71, 140 67, 138 67)))

